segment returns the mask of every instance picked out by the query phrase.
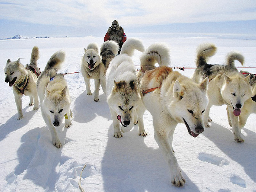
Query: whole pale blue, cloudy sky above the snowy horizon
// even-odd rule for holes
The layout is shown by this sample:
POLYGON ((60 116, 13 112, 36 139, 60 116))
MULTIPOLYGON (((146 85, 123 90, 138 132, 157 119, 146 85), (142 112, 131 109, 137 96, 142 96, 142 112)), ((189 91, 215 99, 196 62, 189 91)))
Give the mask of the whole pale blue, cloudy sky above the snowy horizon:
MULTIPOLYGON (((0 38, 129 33, 256 34, 255 0, 0 0, 0 38)), ((129 36, 129 35, 128 35, 129 36)))

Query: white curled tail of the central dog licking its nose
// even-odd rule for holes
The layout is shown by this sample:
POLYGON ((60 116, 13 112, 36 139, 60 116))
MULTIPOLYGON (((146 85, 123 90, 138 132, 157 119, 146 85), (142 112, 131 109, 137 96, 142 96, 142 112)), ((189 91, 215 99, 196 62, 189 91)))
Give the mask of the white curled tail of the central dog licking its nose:
POLYGON ((128 56, 133 56, 134 50, 143 52, 144 45, 138 38, 129 38, 123 43, 120 54, 127 54, 128 56))

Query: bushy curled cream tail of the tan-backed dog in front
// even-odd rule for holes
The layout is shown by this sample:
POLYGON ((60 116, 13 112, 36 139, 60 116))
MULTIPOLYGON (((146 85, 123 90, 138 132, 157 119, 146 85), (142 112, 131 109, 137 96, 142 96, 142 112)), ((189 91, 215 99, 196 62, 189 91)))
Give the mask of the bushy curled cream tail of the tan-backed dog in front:
POLYGON ((154 43, 150 45, 140 57, 142 70, 153 69, 155 64, 159 66, 170 65, 169 48, 164 43, 154 43))

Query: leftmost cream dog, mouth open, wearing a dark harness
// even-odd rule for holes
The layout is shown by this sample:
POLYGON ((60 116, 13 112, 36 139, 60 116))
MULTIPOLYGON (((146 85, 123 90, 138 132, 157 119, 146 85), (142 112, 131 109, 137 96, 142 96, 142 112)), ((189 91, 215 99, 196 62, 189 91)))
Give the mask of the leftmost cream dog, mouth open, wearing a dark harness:
MULTIPOLYGON (((35 65, 37 65, 37 60, 39 58, 38 47, 34 47, 31 53, 31 60, 35 65)), ((5 82, 9 83, 9 86, 13 87, 13 94, 15 103, 18 110, 18 120, 23 118, 22 113, 22 96, 29 95, 29 106, 34 105, 33 110, 39 109, 39 101, 36 89, 37 76, 30 70, 27 70, 20 62, 11 62, 10 59, 7 60, 5 66, 5 82), (13 86, 14 85, 14 86, 13 86)))

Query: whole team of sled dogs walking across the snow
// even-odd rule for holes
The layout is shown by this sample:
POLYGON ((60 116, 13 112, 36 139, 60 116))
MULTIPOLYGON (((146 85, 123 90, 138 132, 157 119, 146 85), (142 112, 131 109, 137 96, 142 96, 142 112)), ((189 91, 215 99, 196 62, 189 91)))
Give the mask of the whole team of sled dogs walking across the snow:
MULTIPOLYGON (((189 78, 172 70, 169 49, 163 43, 154 43, 145 50, 141 40, 130 38, 123 44, 120 54, 118 48, 118 44, 111 40, 104 42, 100 50, 95 43, 87 46, 81 61, 86 92, 92 94, 90 79, 94 79, 94 101, 97 102, 99 87, 102 87, 115 138, 123 137, 122 133, 130 131, 135 124, 139 127, 138 134, 147 136, 143 114, 146 109, 150 112, 154 137, 168 162, 174 186, 185 183, 172 147, 178 123, 184 123, 188 133, 196 138, 204 127, 210 126, 211 106, 225 104, 235 141, 244 141, 241 129, 248 116, 256 113, 256 79, 255 75, 238 72, 235 67, 235 60, 243 65, 242 54, 227 53, 226 65, 208 64, 217 48, 211 43, 203 43, 197 47, 197 68, 189 78), (141 52, 139 71, 132 60, 134 50, 141 52)), ((18 119, 23 118, 22 96, 29 95, 33 110, 39 108, 39 96, 42 117, 50 129, 53 145, 59 148, 61 142, 55 127, 61 125, 64 117, 66 127, 72 124, 69 88, 64 75, 58 73, 65 53, 54 53, 42 73, 37 66, 38 58, 39 50, 34 47, 26 67, 19 59, 14 62, 8 59, 4 69, 5 82, 13 87, 18 119)))

